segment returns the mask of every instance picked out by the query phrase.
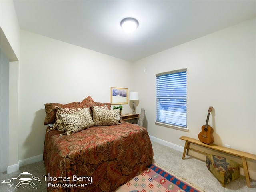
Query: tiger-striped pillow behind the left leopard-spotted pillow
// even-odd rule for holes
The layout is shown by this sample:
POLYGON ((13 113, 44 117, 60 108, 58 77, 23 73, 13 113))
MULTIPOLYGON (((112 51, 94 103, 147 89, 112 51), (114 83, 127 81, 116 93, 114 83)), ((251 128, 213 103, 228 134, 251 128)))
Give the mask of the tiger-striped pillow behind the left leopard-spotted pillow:
POLYGON ((60 120, 61 113, 70 114, 70 113, 74 113, 74 112, 82 110, 82 108, 60 108, 58 106, 56 106, 56 109, 57 109, 57 112, 56 112, 55 122, 53 124, 53 127, 50 128, 48 131, 52 131, 52 130, 64 131, 62 121, 60 120))

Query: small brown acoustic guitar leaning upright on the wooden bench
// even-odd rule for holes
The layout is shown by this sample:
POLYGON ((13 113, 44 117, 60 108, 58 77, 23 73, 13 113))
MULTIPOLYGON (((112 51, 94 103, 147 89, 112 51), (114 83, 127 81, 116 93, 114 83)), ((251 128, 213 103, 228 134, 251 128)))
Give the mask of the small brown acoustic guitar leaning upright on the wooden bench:
POLYGON ((206 118, 206 124, 202 126, 202 131, 198 134, 199 140, 205 144, 212 144, 214 142, 214 138, 212 135, 213 128, 208 124, 211 111, 212 111, 212 107, 209 107, 208 115, 206 118))

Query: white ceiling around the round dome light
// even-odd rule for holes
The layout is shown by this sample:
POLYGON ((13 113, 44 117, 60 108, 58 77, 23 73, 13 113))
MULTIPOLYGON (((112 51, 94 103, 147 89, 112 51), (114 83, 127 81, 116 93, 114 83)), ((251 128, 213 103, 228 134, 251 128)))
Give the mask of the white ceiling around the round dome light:
POLYGON ((255 0, 14 0, 20 28, 128 61, 256 17, 255 0), (139 27, 123 32, 120 21, 139 27))

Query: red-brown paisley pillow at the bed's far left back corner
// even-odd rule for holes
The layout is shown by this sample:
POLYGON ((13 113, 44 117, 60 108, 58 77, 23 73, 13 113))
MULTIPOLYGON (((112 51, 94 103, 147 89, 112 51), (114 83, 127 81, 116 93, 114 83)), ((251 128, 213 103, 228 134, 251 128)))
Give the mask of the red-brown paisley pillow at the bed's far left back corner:
POLYGON ((68 104, 61 104, 61 103, 44 104, 45 112, 46 112, 46 116, 44 118, 44 125, 54 124, 56 119, 56 112, 57 112, 56 106, 61 108, 79 108, 79 107, 76 107, 78 104, 80 104, 80 102, 72 102, 68 104))

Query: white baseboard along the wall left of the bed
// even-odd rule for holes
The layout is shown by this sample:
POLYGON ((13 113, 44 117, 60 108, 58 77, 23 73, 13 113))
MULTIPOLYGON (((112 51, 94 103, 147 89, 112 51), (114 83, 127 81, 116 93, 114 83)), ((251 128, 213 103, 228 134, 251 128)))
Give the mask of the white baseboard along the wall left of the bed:
POLYGON ((43 154, 34 156, 34 157, 30 157, 27 159, 22 159, 19 160, 18 164, 14 164, 14 165, 10 165, 7 167, 7 174, 16 172, 20 169, 20 167, 28 165, 28 164, 32 164, 38 161, 42 161, 43 160, 43 154))

